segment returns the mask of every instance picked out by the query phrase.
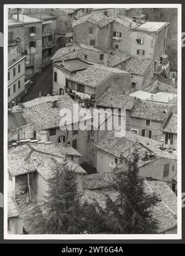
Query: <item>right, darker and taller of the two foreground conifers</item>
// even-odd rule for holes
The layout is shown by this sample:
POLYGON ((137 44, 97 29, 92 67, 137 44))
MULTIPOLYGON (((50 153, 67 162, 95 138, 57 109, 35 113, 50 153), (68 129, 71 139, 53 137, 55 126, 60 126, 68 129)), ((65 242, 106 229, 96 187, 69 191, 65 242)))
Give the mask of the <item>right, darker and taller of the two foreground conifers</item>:
POLYGON ((160 202, 157 195, 146 194, 144 179, 138 175, 138 152, 128 163, 128 171, 119 172, 115 178, 118 197, 115 202, 108 197, 102 228, 107 233, 152 234, 157 232, 157 220, 152 207, 160 202))

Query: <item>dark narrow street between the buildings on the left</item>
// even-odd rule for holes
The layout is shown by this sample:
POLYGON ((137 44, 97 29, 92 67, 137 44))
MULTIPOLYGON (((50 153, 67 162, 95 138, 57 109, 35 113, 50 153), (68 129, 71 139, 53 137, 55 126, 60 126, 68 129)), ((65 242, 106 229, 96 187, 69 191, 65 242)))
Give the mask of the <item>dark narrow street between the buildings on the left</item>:
POLYGON ((43 73, 31 77, 34 85, 33 88, 23 98, 22 102, 31 101, 36 97, 39 97, 39 91, 41 96, 51 94, 52 89, 52 65, 49 65, 43 69, 43 73))

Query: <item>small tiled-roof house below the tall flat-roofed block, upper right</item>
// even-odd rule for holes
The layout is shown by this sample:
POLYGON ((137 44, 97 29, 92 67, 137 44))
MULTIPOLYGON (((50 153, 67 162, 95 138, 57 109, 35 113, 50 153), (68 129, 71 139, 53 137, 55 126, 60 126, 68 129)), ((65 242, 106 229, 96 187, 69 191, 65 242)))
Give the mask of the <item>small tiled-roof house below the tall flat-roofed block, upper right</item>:
POLYGON ((153 77, 154 67, 152 59, 131 57, 126 60, 121 69, 131 73, 131 89, 143 90, 147 88, 153 77))

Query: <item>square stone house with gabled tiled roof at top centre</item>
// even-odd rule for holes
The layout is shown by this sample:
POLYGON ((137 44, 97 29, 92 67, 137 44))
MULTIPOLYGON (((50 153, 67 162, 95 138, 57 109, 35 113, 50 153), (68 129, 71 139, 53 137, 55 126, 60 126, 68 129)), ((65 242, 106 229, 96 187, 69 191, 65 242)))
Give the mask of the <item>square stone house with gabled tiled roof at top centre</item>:
POLYGON ((112 20, 96 12, 80 17, 72 23, 74 43, 83 43, 107 49, 112 44, 112 20))

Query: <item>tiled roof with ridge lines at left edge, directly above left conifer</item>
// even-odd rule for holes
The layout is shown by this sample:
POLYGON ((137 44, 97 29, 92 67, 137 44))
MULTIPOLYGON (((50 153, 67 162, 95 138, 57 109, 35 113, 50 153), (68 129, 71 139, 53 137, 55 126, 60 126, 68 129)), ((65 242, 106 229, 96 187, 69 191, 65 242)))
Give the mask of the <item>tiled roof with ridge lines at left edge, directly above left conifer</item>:
POLYGON ((27 144, 9 149, 8 171, 12 176, 23 175, 36 171, 38 165, 43 164, 51 158, 57 158, 63 161, 65 155, 80 157, 80 154, 75 149, 72 147, 66 148, 62 144, 27 142, 27 144))

